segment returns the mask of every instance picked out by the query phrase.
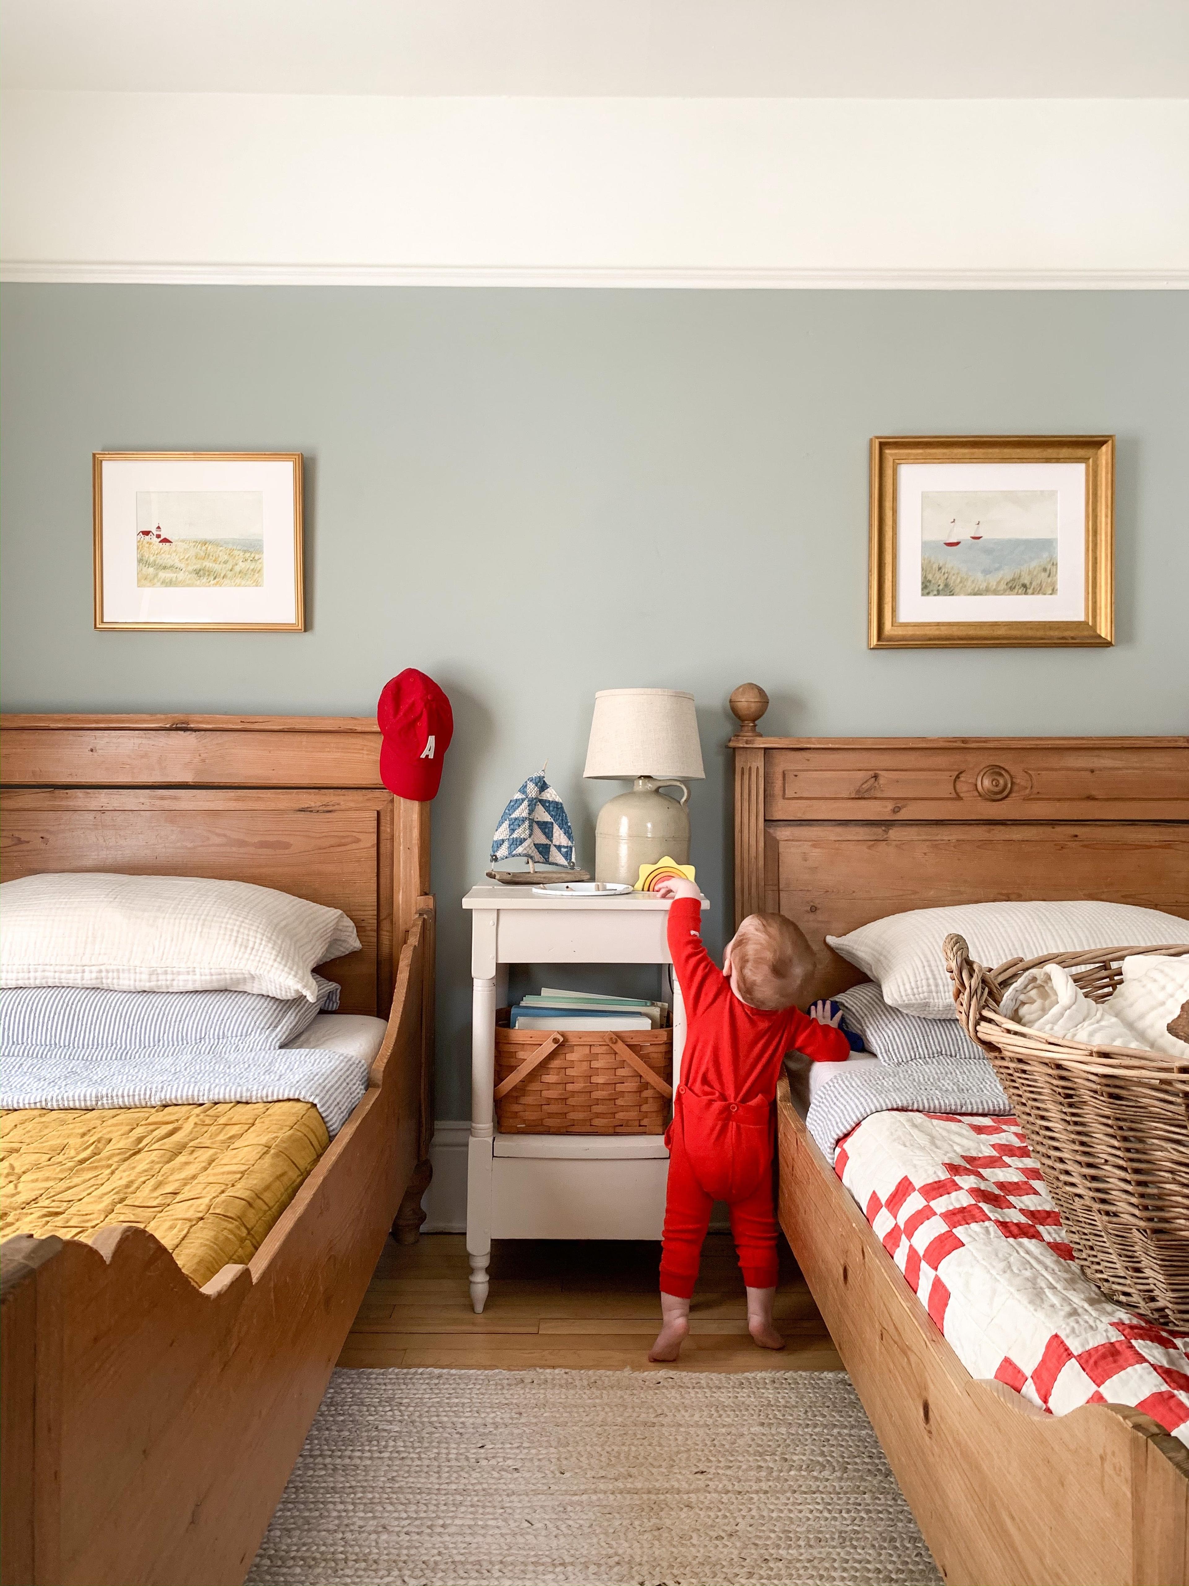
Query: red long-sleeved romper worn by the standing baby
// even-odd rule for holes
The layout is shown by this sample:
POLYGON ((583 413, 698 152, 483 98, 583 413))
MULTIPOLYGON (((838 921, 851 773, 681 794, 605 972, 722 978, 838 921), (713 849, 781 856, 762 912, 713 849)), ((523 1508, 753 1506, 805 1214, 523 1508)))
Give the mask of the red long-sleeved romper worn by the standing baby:
POLYGON ((682 1082, 674 1096, 669 1188, 664 1202, 661 1289, 690 1299, 710 1207, 726 1201, 744 1283, 775 1288, 772 1104, 786 1052, 816 1063, 850 1056, 840 1029, 801 1009, 764 1012, 740 1002, 702 947, 702 909, 679 898, 669 909, 669 952, 685 1001, 682 1082))

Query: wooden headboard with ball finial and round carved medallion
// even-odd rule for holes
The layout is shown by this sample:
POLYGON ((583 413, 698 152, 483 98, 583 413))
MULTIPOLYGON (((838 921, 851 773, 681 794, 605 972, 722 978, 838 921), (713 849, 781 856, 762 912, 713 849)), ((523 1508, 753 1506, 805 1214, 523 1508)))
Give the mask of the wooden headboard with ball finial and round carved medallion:
MULTIPOLYGON (((786 914, 816 996, 826 947, 905 909, 1105 898, 1189 918, 1189 737, 764 737, 737 688, 736 921, 786 914)), ((1114 945, 1114 944, 1102 944, 1114 945)))

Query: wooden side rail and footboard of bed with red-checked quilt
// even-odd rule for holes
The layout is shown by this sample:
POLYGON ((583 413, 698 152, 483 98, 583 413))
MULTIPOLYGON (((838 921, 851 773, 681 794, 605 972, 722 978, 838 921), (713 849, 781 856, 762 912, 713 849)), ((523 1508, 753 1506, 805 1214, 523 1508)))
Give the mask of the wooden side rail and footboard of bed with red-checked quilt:
POLYGON ((778 1098, 780 1224, 950 1586, 1189 1586, 1189 1450, 977 1381, 778 1098))

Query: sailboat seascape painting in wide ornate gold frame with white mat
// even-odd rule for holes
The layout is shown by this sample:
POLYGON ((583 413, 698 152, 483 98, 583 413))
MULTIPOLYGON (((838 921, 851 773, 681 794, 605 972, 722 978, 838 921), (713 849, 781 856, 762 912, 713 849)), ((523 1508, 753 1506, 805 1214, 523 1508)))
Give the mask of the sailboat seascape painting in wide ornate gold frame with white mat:
POLYGON ((869 647, 1114 642, 1114 436, 870 442, 869 647))

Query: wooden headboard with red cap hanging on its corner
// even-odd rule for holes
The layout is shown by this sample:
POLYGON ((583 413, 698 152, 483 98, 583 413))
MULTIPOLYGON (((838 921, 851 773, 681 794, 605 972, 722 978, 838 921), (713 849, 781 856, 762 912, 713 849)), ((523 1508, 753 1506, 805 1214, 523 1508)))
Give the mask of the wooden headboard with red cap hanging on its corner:
POLYGON ((255 882, 342 909, 342 1012, 392 1006, 430 806, 393 798, 358 717, 0 717, 0 875, 122 871, 255 882))

